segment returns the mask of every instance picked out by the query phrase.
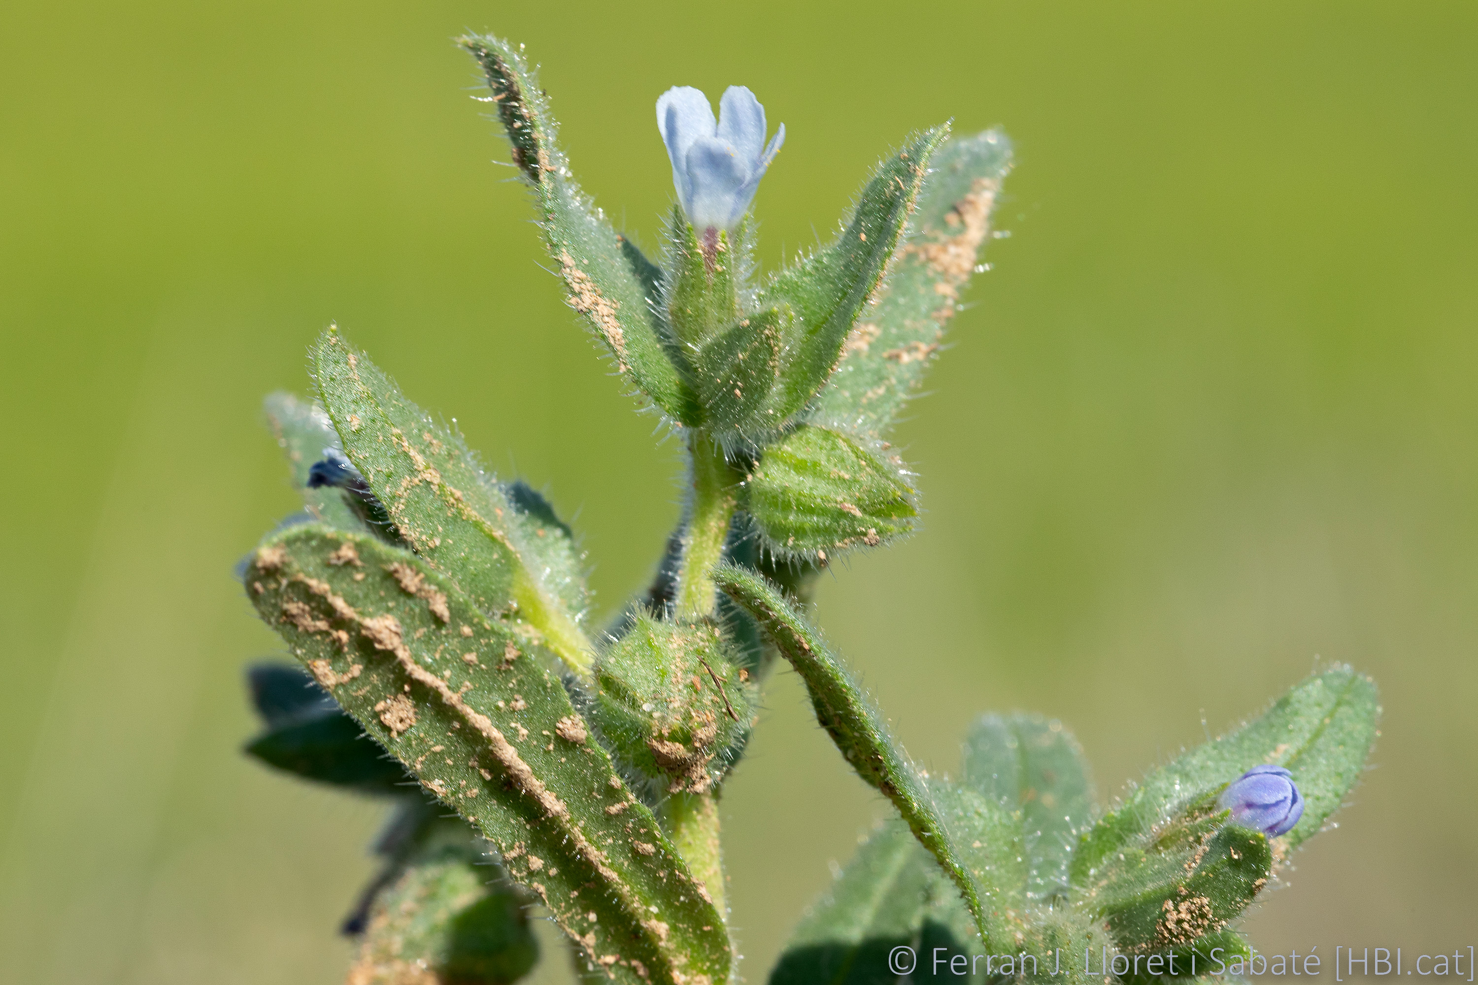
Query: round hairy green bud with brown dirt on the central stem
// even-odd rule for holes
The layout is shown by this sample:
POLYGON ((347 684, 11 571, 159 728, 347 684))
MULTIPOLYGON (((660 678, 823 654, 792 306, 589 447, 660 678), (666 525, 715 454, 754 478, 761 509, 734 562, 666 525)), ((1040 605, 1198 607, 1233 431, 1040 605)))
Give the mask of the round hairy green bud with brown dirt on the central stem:
POLYGON ((596 665, 591 724, 622 765, 664 793, 711 790, 749 737, 749 675, 729 651, 712 620, 641 611, 596 665))

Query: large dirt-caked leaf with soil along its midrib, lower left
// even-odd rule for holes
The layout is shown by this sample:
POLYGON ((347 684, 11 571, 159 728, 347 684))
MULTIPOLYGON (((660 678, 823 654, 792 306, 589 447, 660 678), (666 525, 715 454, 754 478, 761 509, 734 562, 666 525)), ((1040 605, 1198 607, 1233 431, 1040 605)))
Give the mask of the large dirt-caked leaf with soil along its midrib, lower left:
POLYGON ((245 582, 315 679, 498 848, 588 961, 631 985, 727 981, 718 911, 537 642, 367 535, 293 527, 245 582))

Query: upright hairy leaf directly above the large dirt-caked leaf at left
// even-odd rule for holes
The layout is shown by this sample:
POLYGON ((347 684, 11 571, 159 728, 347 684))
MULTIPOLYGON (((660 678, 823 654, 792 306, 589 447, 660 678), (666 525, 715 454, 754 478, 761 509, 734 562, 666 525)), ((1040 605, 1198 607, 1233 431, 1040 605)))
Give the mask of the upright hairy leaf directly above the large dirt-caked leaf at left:
POLYGON ((584 582, 571 570, 572 548, 559 546, 569 536, 554 526, 548 504, 532 504, 528 493, 510 498, 460 434, 406 400, 334 329, 319 340, 313 362, 344 453, 415 554, 455 579, 483 613, 519 620, 588 675, 594 647, 579 625, 584 582))

